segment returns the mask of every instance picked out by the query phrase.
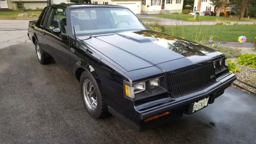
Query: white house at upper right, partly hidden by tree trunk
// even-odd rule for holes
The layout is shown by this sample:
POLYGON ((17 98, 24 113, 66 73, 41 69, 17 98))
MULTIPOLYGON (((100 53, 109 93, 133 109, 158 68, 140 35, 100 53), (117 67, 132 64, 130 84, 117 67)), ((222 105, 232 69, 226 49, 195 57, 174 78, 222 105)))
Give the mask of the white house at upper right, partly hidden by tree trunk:
MULTIPOLYGON (((229 0, 228 0, 229 3, 229 0)), ((220 12, 228 12, 231 11, 231 6, 221 6, 220 12)), ((210 0, 195 0, 193 12, 203 12, 203 11, 212 11, 217 12, 218 7, 211 5, 210 0)))

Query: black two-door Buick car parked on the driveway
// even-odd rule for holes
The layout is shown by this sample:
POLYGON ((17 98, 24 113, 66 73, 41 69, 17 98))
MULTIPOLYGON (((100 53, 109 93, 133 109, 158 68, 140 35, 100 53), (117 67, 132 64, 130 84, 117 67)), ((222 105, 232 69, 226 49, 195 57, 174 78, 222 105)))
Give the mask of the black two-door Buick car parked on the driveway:
POLYGON ((122 6, 48 6, 28 36, 40 64, 55 61, 80 82, 90 116, 109 112, 136 130, 205 108, 236 79, 222 53, 149 30, 122 6))

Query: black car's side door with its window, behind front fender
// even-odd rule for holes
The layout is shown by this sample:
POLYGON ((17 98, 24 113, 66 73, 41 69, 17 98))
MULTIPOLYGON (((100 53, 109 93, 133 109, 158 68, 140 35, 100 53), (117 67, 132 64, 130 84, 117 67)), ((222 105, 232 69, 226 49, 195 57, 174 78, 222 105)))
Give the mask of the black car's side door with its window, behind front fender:
POLYGON ((51 8, 43 30, 44 48, 57 64, 71 72, 69 61, 69 37, 66 22, 66 10, 62 8, 51 8), (53 32, 59 28, 60 34, 53 32))

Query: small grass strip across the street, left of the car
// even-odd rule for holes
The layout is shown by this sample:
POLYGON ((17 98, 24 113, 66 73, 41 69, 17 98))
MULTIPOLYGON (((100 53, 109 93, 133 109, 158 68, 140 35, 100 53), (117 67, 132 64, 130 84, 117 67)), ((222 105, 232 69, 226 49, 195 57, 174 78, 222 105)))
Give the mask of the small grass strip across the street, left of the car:
MULTIPOLYGON (((12 12, 0 12, 0 17, 16 18, 18 17, 18 14, 21 14, 21 13, 25 13, 25 12, 21 10, 13 10, 12 12)), ((26 13, 28 13, 28 17, 30 17, 33 14, 36 14, 37 16, 35 17, 38 17, 41 14, 41 12, 38 12, 38 11, 29 11, 26 13)))

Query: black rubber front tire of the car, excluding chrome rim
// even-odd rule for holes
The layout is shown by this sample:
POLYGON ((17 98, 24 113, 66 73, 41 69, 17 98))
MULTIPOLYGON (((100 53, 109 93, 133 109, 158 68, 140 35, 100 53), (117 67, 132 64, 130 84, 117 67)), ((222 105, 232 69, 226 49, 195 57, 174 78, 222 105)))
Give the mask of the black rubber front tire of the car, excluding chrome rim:
POLYGON ((87 112, 90 114, 90 116, 92 116, 92 118, 99 119, 99 118, 105 118, 107 116, 107 114, 108 114, 107 105, 106 105, 104 99, 102 98, 99 86, 98 86, 96 80, 94 79, 94 77, 92 76, 92 74, 90 74, 86 70, 84 72, 82 72, 82 74, 80 76, 80 93, 82 96, 82 100, 84 102, 84 106, 85 106, 87 112), (96 92, 97 106, 96 106, 96 109, 94 109, 94 110, 89 108, 88 104, 86 104, 86 100, 85 100, 85 96, 84 96, 84 82, 86 80, 90 80, 90 82, 92 82, 92 84, 94 86, 94 90, 96 92))

